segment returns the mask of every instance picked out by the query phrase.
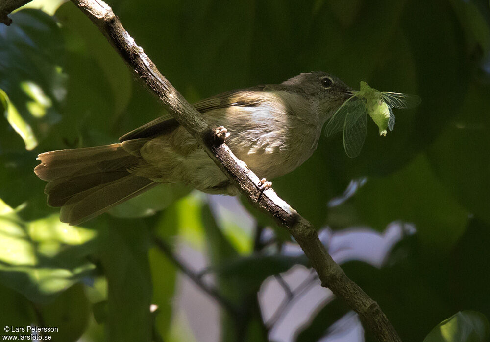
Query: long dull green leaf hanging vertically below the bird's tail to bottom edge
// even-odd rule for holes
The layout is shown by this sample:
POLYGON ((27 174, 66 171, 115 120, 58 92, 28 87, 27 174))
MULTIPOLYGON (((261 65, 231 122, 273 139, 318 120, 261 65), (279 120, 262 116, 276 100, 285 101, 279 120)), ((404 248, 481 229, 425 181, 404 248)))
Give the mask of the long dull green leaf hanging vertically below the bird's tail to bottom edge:
POLYGON ((108 217, 100 260, 108 284, 107 339, 151 340, 148 231, 138 221, 108 217))

